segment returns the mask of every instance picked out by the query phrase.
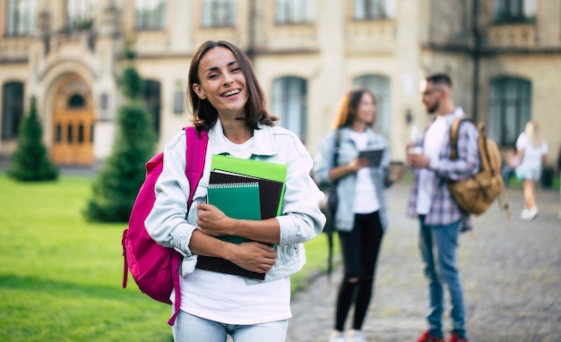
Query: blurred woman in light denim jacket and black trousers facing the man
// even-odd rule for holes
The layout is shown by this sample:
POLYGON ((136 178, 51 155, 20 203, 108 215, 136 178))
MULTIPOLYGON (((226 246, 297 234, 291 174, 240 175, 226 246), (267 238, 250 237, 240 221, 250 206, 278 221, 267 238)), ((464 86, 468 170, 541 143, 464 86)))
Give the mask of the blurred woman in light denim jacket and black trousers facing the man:
MULTIPOLYGON (((390 164, 388 143, 382 134, 372 129, 375 109, 372 92, 364 89, 349 91, 341 99, 335 129, 324 137, 315 154, 315 182, 337 182, 339 199, 334 228, 339 232, 344 276, 337 296, 330 341, 366 341, 362 325, 372 297, 382 237, 388 227, 384 189, 391 184, 387 181, 390 164), (334 165, 338 131, 339 158, 334 165), (360 150, 384 150, 380 166, 370 166, 367 158, 358 158, 360 150), (345 321, 353 300, 354 319, 345 337, 345 321)), ((395 180, 399 179, 401 173, 395 180)))

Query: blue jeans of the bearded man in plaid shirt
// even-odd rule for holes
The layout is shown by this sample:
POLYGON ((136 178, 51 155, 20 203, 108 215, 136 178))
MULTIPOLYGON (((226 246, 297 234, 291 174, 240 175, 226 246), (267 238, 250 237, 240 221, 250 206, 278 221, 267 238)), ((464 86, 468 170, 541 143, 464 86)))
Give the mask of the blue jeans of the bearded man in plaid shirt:
POLYGON ((448 226, 427 226, 425 216, 419 215, 419 250, 428 280, 429 308, 428 331, 436 337, 444 336, 442 316, 444 312, 444 283, 450 292, 453 332, 467 338, 465 331, 465 308, 463 304, 462 280, 458 266, 458 235, 460 222, 448 226))

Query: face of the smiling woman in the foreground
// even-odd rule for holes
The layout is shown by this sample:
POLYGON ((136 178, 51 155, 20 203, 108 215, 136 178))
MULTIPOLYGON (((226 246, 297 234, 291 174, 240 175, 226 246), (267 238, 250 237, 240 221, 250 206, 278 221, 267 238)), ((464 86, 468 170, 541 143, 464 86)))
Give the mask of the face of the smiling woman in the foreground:
POLYGON ((236 56, 226 47, 213 47, 201 58, 200 83, 193 84, 199 98, 207 99, 219 115, 244 116, 248 99, 246 76, 236 56))

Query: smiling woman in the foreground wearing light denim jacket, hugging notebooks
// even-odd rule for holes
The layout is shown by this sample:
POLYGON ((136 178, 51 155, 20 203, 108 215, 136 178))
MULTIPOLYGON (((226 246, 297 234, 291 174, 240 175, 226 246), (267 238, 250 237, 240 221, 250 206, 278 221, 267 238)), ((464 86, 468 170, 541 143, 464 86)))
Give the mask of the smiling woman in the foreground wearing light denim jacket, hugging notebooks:
POLYGON ((264 106, 263 90, 248 58, 229 42, 207 41, 199 47, 191 62, 188 91, 194 125, 209 133, 203 177, 187 210, 186 134, 179 133, 164 150, 157 198, 146 219, 156 242, 184 255, 178 270, 181 310, 172 329, 174 339, 224 342, 229 335, 234 341, 284 341, 291 317, 289 275, 302 268, 303 244, 319 235, 325 223, 318 209, 323 194, 309 175, 313 160, 294 133, 274 125, 277 118, 264 106), (282 214, 242 220, 205 203, 212 154, 286 164, 282 214), (215 237, 219 235, 255 242, 229 244, 215 237), (197 269, 197 255, 266 272, 265 279, 197 269))

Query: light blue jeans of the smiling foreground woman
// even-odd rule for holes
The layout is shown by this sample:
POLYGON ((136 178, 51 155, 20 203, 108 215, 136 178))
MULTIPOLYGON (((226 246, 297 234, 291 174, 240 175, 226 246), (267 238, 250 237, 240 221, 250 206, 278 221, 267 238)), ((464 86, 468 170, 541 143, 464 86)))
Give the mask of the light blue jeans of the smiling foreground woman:
POLYGON ((205 320, 180 311, 174 324, 173 339, 176 342, 225 342, 227 335, 235 342, 284 342, 289 321, 271 321, 252 325, 224 324, 205 320))

